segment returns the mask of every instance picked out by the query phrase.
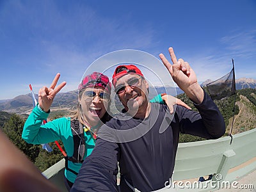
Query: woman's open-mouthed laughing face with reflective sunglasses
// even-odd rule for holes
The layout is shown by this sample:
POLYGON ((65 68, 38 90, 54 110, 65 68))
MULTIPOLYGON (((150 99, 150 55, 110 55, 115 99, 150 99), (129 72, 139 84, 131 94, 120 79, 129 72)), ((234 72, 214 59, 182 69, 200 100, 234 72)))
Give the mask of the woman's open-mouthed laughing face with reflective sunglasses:
POLYGON ((86 88, 79 99, 83 119, 85 118, 84 120, 91 126, 97 125, 106 113, 109 99, 110 95, 104 92, 101 86, 86 88))

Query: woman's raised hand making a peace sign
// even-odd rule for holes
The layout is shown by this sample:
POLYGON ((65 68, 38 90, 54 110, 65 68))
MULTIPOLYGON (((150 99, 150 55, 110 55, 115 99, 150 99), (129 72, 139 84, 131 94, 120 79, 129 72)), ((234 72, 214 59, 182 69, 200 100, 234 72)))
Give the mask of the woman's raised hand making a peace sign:
POLYGON ((52 81, 52 84, 49 88, 46 86, 43 86, 40 88, 38 93, 38 104, 40 108, 47 113, 52 105, 53 99, 55 95, 60 92, 60 90, 67 84, 65 81, 63 81, 61 84, 59 84, 56 88, 56 84, 58 83, 58 80, 60 79, 60 74, 56 74, 55 78, 52 81))

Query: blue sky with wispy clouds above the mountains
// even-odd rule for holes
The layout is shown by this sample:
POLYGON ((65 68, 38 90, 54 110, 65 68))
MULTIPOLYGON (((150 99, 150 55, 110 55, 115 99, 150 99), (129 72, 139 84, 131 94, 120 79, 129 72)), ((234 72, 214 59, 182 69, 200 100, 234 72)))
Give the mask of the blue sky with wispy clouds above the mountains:
MULTIPOLYGON (((198 81, 256 79, 256 1, 0 0, 0 99, 37 93, 55 74, 76 90, 86 68, 120 49, 157 58, 172 46, 198 81)), ((157 67, 156 67, 157 68, 157 67)), ((153 69, 154 70, 154 69, 153 69)))

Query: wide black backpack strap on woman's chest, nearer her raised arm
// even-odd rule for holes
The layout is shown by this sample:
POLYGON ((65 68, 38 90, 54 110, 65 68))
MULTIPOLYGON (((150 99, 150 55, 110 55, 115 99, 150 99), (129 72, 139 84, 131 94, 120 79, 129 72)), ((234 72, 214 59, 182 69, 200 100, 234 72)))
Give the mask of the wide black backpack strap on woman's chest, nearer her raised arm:
POLYGON ((84 129, 83 125, 77 119, 70 121, 70 127, 74 141, 74 153, 72 157, 65 157, 65 168, 75 175, 78 175, 77 172, 68 168, 68 161, 72 161, 73 163, 83 163, 86 148, 84 140, 84 129))

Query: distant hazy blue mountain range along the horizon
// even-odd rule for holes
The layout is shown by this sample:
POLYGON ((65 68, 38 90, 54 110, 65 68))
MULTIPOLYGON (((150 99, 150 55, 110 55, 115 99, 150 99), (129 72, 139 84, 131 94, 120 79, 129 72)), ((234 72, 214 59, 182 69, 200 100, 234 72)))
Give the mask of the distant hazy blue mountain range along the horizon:
MULTIPOLYGON (((205 86, 207 83, 210 83, 211 80, 207 79, 201 86, 205 86)), ((241 78, 236 79, 236 89, 241 90, 244 88, 256 88, 256 80, 252 78, 241 78)), ((153 88, 150 88, 152 90, 153 88)), ((173 87, 155 87, 154 88, 157 93, 170 93, 172 95, 179 95, 183 93, 180 88, 173 87)), ((156 93, 155 92, 155 93, 156 93)), ((150 91, 151 95, 149 97, 153 97, 154 92, 150 91)), ((38 95, 35 95, 36 99, 38 99, 38 95)), ((52 102, 52 108, 76 108, 77 105, 77 90, 66 92, 66 93, 58 93, 52 102)), ((21 111, 31 110, 33 108, 33 100, 31 97, 31 93, 26 95, 19 95, 13 99, 8 100, 0 100, 0 111, 6 111, 10 113, 21 113, 21 111)))

